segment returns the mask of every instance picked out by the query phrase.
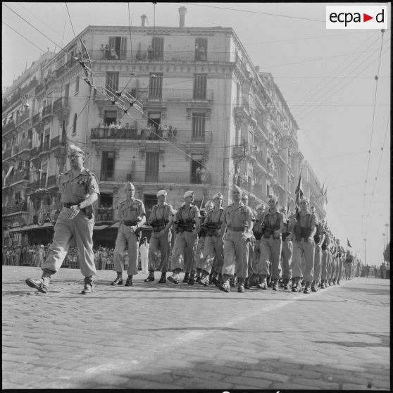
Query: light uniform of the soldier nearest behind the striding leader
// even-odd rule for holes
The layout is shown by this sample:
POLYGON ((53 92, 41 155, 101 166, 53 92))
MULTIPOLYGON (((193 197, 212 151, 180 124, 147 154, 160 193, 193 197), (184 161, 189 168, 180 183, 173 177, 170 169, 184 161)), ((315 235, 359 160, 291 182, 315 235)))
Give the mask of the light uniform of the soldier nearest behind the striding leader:
POLYGON ((121 221, 115 251, 113 251, 113 269, 116 272, 124 270, 124 257, 128 247, 127 275, 138 274, 139 233, 130 232, 130 227, 137 225, 142 216, 146 216, 146 211, 143 202, 139 199, 134 199, 132 202, 125 200, 120 203, 118 217, 121 221))

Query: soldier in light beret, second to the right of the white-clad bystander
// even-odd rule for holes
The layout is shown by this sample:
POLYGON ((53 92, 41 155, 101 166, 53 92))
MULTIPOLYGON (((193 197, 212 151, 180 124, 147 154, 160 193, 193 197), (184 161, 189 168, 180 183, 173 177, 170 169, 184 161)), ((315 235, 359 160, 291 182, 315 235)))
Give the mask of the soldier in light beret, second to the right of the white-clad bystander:
POLYGON ((188 277, 188 284, 195 283, 195 251, 198 244, 198 231, 201 225, 201 215, 199 208, 194 205, 194 192, 187 191, 184 194, 185 203, 175 214, 174 230, 177 232, 173 257, 173 275, 168 277, 170 282, 179 283, 179 273, 185 263, 185 277, 188 277))

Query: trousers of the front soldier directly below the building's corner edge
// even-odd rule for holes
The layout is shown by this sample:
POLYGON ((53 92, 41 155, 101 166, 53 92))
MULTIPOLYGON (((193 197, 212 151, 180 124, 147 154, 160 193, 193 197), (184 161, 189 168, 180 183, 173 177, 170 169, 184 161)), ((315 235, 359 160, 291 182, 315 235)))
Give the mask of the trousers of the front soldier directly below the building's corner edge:
POLYGON ((246 278, 249 263, 248 242, 242 239, 244 232, 227 230, 224 239, 223 275, 234 275, 246 278))

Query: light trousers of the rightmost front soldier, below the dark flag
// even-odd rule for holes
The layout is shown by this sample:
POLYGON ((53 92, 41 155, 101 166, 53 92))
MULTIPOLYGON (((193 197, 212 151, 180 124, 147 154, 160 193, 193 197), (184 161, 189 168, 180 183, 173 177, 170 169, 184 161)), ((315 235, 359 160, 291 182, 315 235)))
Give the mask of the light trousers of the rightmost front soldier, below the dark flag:
POLYGON ((294 240, 294 252, 292 255, 292 275, 304 278, 306 282, 313 281, 314 254, 316 244, 313 240, 294 240), (304 258, 304 268, 301 266, 301 258, 304 258))

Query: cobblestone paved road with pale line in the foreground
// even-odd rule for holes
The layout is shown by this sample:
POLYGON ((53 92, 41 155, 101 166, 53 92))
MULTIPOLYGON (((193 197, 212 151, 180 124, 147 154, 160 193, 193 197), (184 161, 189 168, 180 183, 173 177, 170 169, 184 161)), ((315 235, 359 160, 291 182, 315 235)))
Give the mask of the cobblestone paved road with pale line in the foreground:
POLYGON ((99 271, 84 296, 78 270, 48 294, 24 283, 39 275, 3 266, 4 389, 390 388, 389 280, 225 294, 142 274, 111 287, 99 271))

